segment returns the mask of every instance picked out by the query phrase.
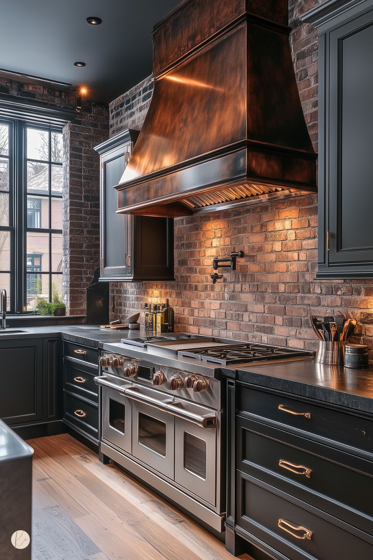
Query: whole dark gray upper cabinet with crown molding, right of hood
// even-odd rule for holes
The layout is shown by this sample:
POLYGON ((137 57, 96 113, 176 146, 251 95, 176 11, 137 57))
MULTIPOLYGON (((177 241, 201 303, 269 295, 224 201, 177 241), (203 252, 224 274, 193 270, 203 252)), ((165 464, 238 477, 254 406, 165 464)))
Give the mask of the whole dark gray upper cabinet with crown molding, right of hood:
POLYGON ((373 278, 373 0, 328 0, 319 34, 318 278, 373 278))

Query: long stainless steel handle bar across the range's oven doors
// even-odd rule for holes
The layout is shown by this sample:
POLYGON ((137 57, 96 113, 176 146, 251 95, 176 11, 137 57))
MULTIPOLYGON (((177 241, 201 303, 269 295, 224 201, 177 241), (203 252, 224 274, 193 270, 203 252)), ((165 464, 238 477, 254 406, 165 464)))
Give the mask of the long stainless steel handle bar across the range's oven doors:
POLYGON ((152 396, 143 395, 140 393, 140 389, 137 387, 124 387, 120 385, 115 385, 110 381, 107 381, 106 377, 95 377, 94 379, 96 385, 105 387, 119 393, 122 396, 126 396, 129 399, 136 400, 139 403, 148 404, 150 407, 157 408, 158 410, 163 410, 163 412, 168 412, 173 416, 187 420, 188 422, 193 422, 201 428, 215 428, 216 427, 216 414, 194 414, 189 410, 185 410, 178 406, 177 404, 172 404, 163 400, 153 399, 152 396))

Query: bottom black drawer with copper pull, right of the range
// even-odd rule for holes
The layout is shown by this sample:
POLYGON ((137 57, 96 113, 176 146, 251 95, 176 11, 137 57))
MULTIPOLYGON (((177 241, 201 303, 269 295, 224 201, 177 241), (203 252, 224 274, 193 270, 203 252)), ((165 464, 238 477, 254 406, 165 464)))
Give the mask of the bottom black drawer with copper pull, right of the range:
POLYGON ((334 524, 332 517, 329 520, 319 517, 275 492, 275 489, 237 472, 236 524, 239 534, 242 534, 241 528, 248 534, 248 540, 253 535, 292 560, 373 558, 373 544, 368 540, 350 533, 346 526, 342 528, 334 524))

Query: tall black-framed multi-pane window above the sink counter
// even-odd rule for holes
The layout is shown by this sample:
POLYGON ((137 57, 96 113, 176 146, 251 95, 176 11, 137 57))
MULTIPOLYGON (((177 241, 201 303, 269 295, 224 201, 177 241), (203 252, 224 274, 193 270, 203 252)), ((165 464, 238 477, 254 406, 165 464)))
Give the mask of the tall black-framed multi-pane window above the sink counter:
POLYGON ((0 289, 8 311, 62 293, 62 129, 0 120, 0 289))

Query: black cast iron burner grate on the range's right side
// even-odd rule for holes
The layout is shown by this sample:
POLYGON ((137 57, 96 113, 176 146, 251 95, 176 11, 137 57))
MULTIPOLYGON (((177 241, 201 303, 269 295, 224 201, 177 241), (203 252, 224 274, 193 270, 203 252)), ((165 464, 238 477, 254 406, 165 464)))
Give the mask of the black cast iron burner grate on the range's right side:
POLYGON ((278 360, 279 358, 292 358, 305 356, 308 352, 278 348, 276 346, 261 346, 261 344, 231 344, 224 348, 193 348, 191 351, 180 351, 178 356, 195 358, 205 362, 229 365, 231 363, 254 362, 257 360, 278 360))

